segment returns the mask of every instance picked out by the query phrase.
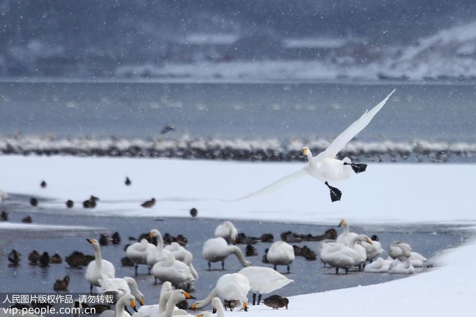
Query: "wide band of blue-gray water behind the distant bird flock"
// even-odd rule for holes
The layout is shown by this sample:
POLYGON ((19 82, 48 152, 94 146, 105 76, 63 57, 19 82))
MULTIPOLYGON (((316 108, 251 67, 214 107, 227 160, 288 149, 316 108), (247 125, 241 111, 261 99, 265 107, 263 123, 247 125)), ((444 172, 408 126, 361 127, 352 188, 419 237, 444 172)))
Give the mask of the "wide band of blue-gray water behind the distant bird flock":
POLYGON ((359 140, 476 141, 473 83, 1 82, 0 134, 334 137, 393 88, 359 140))

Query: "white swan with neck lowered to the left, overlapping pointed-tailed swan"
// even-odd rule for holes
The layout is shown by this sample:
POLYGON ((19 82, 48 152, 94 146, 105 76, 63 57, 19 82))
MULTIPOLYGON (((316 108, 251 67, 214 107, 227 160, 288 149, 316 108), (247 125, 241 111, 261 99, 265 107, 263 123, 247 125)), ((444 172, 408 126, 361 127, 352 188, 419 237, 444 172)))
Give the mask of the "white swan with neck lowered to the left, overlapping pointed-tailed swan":
POLYGON ((246 296, 250 289, 250 281, 243 274, 224 274, 218 279, 215 288, 210 292, 207 298, 197 301, 191 308, 204 308, 214 297, 220 297, 224 300, 241 300, 243 309, 247 311, 248 299, 246 296))

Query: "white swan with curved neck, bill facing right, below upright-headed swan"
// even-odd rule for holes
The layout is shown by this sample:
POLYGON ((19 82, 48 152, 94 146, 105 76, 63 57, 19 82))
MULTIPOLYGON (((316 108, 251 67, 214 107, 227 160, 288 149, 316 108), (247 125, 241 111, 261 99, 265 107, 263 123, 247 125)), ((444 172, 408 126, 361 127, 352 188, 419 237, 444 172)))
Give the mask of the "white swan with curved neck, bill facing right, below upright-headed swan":
POLYGON ((345 274, 347 274, 351 267, 365 263, 363 258, 365 250, 363 250, 363 254, 358 248, 356 250, 355 243, 357 241, 371 243, 370 239, 365 235, 355 236, 348 246, 337 242, 323 243, 321 246, 321 261, 331 267, 335 267, 336 274, 339 274, 339 268, 344 269, 345 274))

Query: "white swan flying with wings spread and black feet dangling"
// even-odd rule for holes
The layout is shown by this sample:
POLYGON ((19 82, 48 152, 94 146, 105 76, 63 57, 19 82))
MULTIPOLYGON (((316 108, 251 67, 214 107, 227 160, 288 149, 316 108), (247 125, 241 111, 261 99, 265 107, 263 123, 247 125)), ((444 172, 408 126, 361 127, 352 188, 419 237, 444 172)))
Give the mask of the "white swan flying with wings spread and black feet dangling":
POLYGON ((244 200, 255 195, 271 192, 279 185, 286 184, 306 175, 317 178, 329 188, 331 201, 340 200, 342 195, 341 191, 336 187, 329 185, 328 182, 345 180, 349 177, 351 169, 354 170, 355 173, 360 173, 365 171, 367 165, 351 163, 351 160, 347 157, 343 160, 338 160, 335 157, 347 144, 347 142, 349 142, 354 136, 357 135, 357 133, 362 131, 370 123, 372 118, 380 109, 382 109, 384 104, 387 102, 387 100, 389 100, 390 96, 394 92, 395 89, 393 89, 393 91, 387 97, 385 97, 384 100, 378 103, 372 110, 365 112, 362 117, 358 118, 357 121, 352 123, 344 132, 340 133, 340 135, 327 147, 327 149, 319 153, 319 155, 312 156, 309 148, 304 147, 301 151, 301 154, 307 156, 307 164, 305 167, 277 180, 272 184, 269 184, 268 186, 254 193, 231 201, 244 200))

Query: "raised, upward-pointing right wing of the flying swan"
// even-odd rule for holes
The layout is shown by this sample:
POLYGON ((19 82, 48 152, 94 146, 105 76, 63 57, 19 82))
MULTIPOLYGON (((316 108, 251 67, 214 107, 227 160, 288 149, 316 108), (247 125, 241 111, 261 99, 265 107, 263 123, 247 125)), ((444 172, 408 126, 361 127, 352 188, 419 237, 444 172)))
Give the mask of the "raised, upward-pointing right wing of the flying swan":
POLYGON ((354 136, 357 135, 360 131, 362 131, 372 120, 372 118, 376 115, 376 113, 382 109, 383 105, 389 100, 390 96, 395 92, 395 89, 385 97, 384 100, 380 101, 372 110, 366 111, 362 117, 360 117, 356 122, 352 123, 350 127, 345 129, 344 132, 340 133, 340 135, 332 141, 332 143, 325 149, 323 152, 317 155, 318 158, 323 157, 336 157, 337 153, 343 149, 343 147, 352 140, 354 136))

